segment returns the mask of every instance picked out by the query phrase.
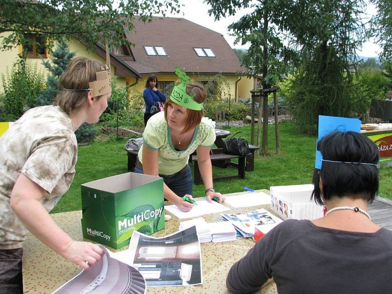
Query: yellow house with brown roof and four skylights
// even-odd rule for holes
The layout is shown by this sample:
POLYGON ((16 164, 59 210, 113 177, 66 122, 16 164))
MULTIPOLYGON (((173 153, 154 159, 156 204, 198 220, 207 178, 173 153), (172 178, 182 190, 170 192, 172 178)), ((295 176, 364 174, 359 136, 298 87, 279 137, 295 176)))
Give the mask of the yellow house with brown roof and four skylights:
MULTIPOLYGON (((184 70, 192 80, 207 81, 220 74, 226 85, 224 92, 227 97, 223 98, 228 98, 228 95, 232 99, 247 98, 254 88, 253 79, 241 77, 240 73, 245 71, 245 67, 241 67, 237 55, 224 37, 204 26, 183 18, 153 17, 151 22, 146 23, 135 18, 134 28, 126 33, 126 37, 135 46, 111 47, 110 59, 112 75, 118 77, 117 85, 132 86, 131 99, 137 96, 135 94, 143 93, 151 73, 157 75, 161 90, 175 82, 175 67, 184 70)), ((69 46, 76 56, 105 60, 103 47, 98 44, 94 50, 88 51, 81 40, 72 39, 69 46)), ((50 53, 44 47, 41 51, 37 48, 31 48, 31 52, 29 50, 29 61, 45 71, 41 59, 48 58, 50 53)), ((21 52, 22 45, 1 51, 0 57, 4 62, 0 65, 0 73, 5 73, 7 67, 11 69, 21 52)))

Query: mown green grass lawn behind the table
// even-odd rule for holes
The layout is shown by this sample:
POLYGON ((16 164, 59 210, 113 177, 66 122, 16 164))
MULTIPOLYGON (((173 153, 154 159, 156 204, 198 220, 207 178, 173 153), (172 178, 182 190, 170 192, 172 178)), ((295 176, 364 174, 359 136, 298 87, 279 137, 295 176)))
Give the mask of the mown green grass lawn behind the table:
MULTIPOLYGON (((245 179, 216 181, 214 188, 222 194, 242 192, 244 187, 254 190, 270 186, 311 183, 315 166, 316 137, 298 134, 288 122, 279 124, 281 155, 275 155, 274 125, 269 126, 269 157, 255 157, 254 172, 245 172, 245 179)), ((257 128, 257 127, 256 127, 257 128)), ((250 142, 250 126, 226 128, 232 134, 242 131, 250 142)), ((70 190, 61 198, 52 213, 80 210, 80 184, 127 172, 127 154, 123 149, 126 139, 94 142, 78 148, 76 174, 70 190)), ((256 140, 255 140, 256 141, 256 140)), ((214 175, 236 174, 237 169, 213 167, 214 175)), ((193 170, 193 169, 192 169, 193 170)), ((392 169, 380 169, 378 196, 392 200, 392 169)), ((194 185, 194 196, 204 196, 204 186, 194 185)))

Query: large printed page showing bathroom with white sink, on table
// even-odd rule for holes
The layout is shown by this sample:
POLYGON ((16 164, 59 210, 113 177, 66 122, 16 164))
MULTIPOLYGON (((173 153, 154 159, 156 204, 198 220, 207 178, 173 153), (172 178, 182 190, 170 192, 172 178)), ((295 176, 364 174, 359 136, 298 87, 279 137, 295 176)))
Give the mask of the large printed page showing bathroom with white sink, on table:
POLYGON ((127 252, 147 286, 202 284, 201 250, 196 226, 162 238, 134 231, 127 252))

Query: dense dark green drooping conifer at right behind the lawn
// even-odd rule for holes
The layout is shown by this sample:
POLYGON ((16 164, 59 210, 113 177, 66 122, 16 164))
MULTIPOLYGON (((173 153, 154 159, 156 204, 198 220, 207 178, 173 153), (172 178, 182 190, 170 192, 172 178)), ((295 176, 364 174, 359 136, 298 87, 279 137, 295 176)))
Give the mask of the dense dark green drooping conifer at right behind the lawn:
POLYGON ((296 67, 291 112, 299 129, 314 133, 318 116, 360 117, 353 96, 357 50, 365 40, 363 0, 298 1, 300 25, 291 28, 301 52, 296 67))

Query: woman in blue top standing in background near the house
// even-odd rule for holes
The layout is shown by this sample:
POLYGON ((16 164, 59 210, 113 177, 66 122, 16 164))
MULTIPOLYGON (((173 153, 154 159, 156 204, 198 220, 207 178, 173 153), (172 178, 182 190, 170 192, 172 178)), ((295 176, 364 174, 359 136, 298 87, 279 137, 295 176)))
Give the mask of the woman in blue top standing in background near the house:
POLYGON ((155 74, 150 74, 146 81, 146 89, 143 91, 143 98, 146 102, 146 111, 144 113, 145 126, 147 125, 148 119, 159 112, 157 102, 164 103, 166 101, 165 95, 156 88, 158 86, 158 78, 155 74))

